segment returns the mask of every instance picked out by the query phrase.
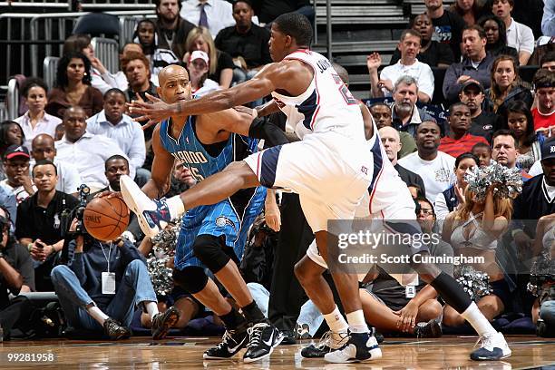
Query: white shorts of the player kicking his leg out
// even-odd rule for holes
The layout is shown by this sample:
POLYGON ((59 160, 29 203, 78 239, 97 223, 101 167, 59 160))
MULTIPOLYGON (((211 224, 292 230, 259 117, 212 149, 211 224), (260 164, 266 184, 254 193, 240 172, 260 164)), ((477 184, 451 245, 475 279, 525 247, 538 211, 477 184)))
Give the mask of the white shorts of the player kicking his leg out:
POLYGON ((364 140, 334 131, 312 133, 303 141, 269 148, 245 160, 267 188, 296 192, 313 232, 330 219, 353 219, 372 180, 373 158, 364 140))

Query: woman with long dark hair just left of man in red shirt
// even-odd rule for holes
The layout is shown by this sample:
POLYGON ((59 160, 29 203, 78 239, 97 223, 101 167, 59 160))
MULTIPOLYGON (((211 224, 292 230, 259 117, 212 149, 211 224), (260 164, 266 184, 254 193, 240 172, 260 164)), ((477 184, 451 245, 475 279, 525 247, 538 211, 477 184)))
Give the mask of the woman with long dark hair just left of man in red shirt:
POLYGON ((503 114, 501 129, 510 130, 516 138, 516 165, 528 173, 532 164, 541 159, 541 146, 534 132, 534 121, 530 108, 521 101, 509 102, 503 114))

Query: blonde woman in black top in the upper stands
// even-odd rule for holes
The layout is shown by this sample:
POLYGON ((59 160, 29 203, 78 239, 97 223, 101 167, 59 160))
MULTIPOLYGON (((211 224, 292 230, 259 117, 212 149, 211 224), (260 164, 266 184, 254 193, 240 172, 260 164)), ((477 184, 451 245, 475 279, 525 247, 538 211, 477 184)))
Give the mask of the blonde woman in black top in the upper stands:
POLYGON ((219 83, 222 89, 227 89, 231 86, 233 67, 235 67, 233 58, 229 54, 216 49, 214 39, 210 35, 208 28, 193 28, 185 41, 185 50, 187 50, 187 53, 183 56, 184 63, 189 63, 190 54, 195 50, 208 54, 210 60, 208 78, 219 83))

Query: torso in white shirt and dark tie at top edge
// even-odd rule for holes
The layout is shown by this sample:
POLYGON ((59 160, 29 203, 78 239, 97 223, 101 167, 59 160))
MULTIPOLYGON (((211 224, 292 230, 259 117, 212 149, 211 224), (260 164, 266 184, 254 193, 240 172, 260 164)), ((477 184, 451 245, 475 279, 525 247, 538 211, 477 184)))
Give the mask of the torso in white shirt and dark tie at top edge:
POLYGON ((191 24, 206 27, 214 36, 235 23, 231 4, 225 0, 184 0, 180 15, 191 24))

